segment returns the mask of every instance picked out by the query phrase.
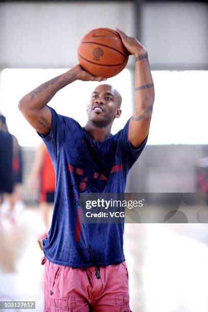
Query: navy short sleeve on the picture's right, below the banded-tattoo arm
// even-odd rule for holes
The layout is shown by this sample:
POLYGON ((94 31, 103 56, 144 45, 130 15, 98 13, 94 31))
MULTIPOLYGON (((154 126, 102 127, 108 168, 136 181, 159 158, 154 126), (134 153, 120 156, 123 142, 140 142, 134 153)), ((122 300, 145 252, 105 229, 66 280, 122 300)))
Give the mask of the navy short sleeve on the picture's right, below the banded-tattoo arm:
POLYGON ((128 171, 135 161, 138 159, 140 154, 142 153, 146 143, 148 136, 145 138, 145 140, 138 146, 137 148, 134 148, 128 139, 128 130, 129 130, 129 121, 125 124, 124 128, 119 132, 119 148, 121 150, 122 154, 122 163, 124 168, 128 171))

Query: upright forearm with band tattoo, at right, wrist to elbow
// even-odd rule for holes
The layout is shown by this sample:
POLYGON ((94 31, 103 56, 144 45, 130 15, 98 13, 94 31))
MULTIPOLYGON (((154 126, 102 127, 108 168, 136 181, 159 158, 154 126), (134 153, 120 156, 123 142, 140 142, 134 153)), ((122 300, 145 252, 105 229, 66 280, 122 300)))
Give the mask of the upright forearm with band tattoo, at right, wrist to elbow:
POLYGON ((154 103, 154 84, 148 55, 135 54, 135 111, 133 118, 151 115, 154 103))

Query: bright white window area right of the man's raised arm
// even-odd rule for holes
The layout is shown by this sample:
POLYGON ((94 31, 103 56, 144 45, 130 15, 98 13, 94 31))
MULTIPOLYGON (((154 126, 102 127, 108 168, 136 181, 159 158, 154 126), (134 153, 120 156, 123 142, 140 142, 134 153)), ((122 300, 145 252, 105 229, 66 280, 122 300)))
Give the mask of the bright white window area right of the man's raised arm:
POLYGON ((207 144, 208 71, 153 71, 148 144, 207 144))

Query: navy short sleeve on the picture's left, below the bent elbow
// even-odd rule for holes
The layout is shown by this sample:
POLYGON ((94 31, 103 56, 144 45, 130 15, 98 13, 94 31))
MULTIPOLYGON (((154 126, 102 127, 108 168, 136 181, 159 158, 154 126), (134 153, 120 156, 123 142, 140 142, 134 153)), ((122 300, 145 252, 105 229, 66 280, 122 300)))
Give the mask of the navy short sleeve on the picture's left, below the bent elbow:
POLYGON ((73 133, 80 127, 79 123, 73 118, 62 116, 49 107, 52 114, 50 134, 45 136, 37 132, 47 146, 53 162, 56 162, 57 153, 63 143, 73 136, 73 133))

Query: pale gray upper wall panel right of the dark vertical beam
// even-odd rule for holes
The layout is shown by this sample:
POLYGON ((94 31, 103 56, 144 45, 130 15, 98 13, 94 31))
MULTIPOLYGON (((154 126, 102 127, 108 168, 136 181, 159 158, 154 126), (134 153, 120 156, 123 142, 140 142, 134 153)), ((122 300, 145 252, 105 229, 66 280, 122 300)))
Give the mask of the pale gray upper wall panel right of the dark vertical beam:
POLYGON ((208 69, 207 4, 145 4, 141 37, 152 69, 208 69))

